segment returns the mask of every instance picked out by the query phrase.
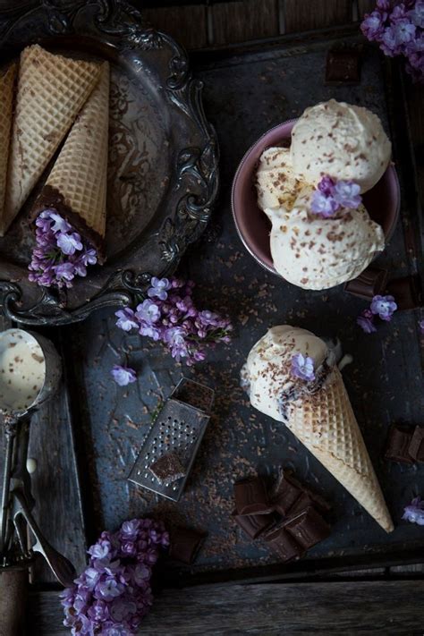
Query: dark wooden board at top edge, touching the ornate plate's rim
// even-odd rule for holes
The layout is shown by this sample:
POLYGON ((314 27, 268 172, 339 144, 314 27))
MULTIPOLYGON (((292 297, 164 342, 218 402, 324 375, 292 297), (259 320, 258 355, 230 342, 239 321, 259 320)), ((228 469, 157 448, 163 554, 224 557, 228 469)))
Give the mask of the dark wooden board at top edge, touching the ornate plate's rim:
POLYGON ((186 48, 208 44, 206 5, 187 5, 142 9, 142 15, 155 29, 173 36, 186 48))

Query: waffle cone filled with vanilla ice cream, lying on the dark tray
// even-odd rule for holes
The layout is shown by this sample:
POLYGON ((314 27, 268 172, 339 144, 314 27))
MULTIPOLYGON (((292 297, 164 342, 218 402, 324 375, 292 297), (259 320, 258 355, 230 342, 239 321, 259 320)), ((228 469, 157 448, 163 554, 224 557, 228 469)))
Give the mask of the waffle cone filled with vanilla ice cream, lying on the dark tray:
MULTIPOLYGON (((300 375, 302 371, 300 372, 300 375)), ((250 351, 244 368, 250 403, 283 421, 386 532, 394 529, 340 371, 323 340, 276 326, 250 351), (293 357, 314 361, 314 377, 293 375, 293 357)))

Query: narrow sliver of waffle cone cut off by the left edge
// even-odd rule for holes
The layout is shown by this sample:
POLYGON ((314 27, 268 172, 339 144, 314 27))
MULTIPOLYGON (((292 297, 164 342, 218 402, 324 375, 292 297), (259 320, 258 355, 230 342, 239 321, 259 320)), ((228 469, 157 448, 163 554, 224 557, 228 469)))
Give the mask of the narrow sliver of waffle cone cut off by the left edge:
POLYGON ((0 76, 0 235, 4 232, 4 195, 12 130, 13 86, 16 64, 0 76))

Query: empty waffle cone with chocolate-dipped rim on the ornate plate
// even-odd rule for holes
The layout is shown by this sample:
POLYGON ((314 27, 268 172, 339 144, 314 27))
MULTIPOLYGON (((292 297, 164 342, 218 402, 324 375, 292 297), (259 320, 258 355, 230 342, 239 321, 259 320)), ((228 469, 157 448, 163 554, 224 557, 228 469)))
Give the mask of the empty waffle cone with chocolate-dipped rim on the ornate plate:
POLYGON ((64 142, 33 210, 55 208, 89 240, 101 258, 106 230, 109 64, 64 142))

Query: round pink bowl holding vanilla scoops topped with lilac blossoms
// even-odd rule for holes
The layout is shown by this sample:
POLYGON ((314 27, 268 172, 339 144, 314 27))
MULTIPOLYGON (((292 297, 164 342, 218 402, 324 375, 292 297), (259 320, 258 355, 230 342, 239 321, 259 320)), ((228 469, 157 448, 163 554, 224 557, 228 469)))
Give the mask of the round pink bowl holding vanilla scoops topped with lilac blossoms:
POLYGON ((233 217, 247 250, 304 289, 352 280, 399 215, 391 143, 376 114, 331 99, 267 131, 234 177, 233 217))

